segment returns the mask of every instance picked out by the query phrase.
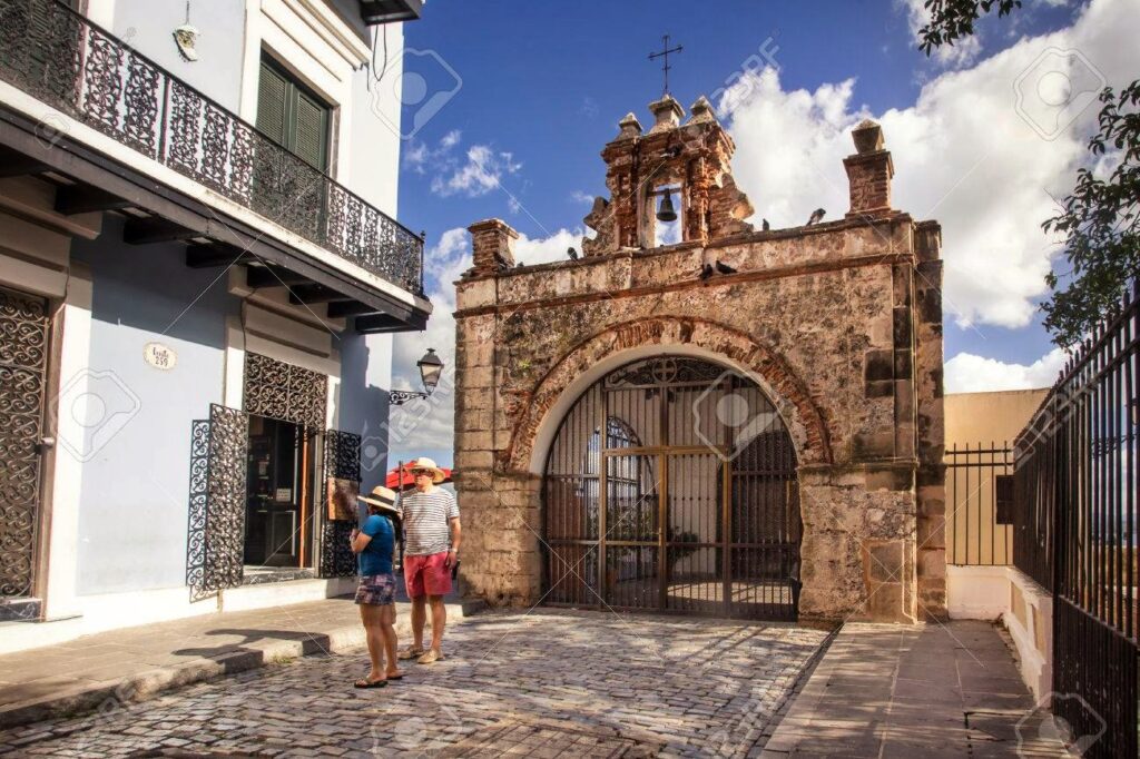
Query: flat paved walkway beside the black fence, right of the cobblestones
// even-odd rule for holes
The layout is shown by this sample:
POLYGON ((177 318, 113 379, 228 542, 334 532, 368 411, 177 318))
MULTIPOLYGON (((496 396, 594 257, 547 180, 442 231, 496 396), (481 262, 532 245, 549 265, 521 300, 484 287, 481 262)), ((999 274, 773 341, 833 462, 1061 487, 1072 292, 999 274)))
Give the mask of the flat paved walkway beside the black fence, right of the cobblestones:
POLYGON ((846 625, 764 746, 789 757, 1067 757, 988 622, 846 625))

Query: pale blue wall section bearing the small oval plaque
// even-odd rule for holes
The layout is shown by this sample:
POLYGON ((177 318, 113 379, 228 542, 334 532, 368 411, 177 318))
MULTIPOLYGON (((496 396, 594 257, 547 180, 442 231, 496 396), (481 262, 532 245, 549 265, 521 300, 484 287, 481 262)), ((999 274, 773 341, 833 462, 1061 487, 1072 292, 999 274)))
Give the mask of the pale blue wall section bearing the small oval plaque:
POLYGON ((226 278, 213 281, 220 270, 187 268, 185 251, 124 245, 111 214, 97 240, 72 247, 92 272, 90 369, 113 373, 89 391, 96 413, 123 411, 107 421, 117 432, 93 424, 83 444, 81 595, 185 585, 190 422, 222 401, 226 317, 239 310, 226 278), (177 352, 173 370, 144 361, 152 341, 177 352))

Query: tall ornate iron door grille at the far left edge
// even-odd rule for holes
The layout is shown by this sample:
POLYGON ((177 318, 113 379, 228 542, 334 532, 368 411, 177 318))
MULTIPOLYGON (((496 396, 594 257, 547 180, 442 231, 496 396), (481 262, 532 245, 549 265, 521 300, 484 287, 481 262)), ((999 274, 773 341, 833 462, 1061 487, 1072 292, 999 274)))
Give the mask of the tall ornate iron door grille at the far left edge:
POLYGON ((48 304, 0 288, 0 601, 33 594, 48 304))

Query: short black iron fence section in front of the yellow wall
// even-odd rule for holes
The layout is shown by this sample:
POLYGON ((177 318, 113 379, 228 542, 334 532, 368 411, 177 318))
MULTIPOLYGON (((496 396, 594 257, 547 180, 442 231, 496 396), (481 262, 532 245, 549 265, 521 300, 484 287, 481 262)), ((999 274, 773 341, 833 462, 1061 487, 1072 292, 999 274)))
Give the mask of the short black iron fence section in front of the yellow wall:
POLYGON ((946 563, 1005 565, 1013 555, 1013 448, 1008 442, 946 449, 946 563))

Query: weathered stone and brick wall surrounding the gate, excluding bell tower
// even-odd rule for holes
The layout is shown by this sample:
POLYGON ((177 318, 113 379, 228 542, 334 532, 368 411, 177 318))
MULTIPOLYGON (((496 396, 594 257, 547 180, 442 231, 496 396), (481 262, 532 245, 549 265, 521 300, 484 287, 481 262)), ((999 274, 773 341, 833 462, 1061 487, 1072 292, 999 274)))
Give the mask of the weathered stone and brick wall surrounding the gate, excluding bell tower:
MULTIPOLYGON (((874 211, 657 250, 613 244, 579 261, 510 270, 477 261, 457 285, 456 312, 469 589, 500 604, 542 595, 546 451, 536 436, 560 422, 569 389, 634 350, 699 350, 758 376, 792 435, 801 615, 942 615, 937 226, 874 211), (718 260, 736 274, 702 280, 701 267, 718 260)), ((510 235, 480 225, 473 234, 510 235)))

